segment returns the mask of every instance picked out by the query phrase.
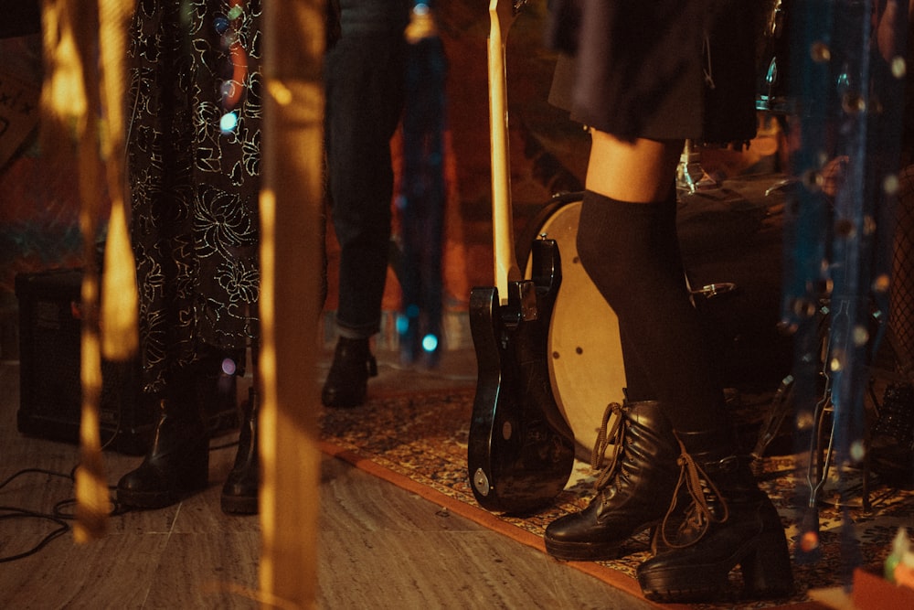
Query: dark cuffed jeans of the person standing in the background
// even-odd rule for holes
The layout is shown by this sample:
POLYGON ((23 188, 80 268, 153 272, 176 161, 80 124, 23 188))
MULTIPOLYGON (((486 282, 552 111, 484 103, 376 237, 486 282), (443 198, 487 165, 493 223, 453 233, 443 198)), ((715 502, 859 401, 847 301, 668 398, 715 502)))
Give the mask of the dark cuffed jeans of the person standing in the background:
POLYGON ((402 31, 340 38, 324 62, 331 214, 340 244, 341 336, 380 327, 387 279, 393 169, 390 138, 403 109, 402 31))

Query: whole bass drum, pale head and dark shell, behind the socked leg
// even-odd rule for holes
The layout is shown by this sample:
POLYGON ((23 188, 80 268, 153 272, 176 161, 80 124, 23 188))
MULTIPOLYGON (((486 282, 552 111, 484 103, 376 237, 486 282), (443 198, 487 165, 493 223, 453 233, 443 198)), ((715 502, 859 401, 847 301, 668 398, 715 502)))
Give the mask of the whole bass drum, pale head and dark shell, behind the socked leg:
MULTIPOLYGON (((677 203, 683 262, 712 366, 724 388, 740 393, 771 391, 792 368, 792 337, 778 329, 785 186, 778 175, 730 178, 680 193, 677 203)), ((558 242, 562 282, 549 325, 549 375, 577 455, 590 461, 607 404, 622 402, 625 369, 616 315, 578 260, 582 196, 558 195, 540 209, 516 256, 529 272, 533 241, 545 235, 558 242)))

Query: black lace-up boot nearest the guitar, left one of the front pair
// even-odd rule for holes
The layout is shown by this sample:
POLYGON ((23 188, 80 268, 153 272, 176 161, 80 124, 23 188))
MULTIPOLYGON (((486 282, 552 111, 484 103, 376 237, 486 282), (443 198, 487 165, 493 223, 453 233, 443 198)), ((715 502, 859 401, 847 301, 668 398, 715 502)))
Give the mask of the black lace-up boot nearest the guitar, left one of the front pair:
MULTIPOLYGON (((660 498, 674 493, 679 451, 660 403, 642 401, 610 408, 622 415, 616 420, 617 433, 607 439, 617 451, 597 481, 597 496, 588 508, 556 519, 546 529, 546 550, 558 559, 619 557, 626 540, 664 518, 667 504, 660 498)), ((606 420, 604 415, 604 426, 606 420)))

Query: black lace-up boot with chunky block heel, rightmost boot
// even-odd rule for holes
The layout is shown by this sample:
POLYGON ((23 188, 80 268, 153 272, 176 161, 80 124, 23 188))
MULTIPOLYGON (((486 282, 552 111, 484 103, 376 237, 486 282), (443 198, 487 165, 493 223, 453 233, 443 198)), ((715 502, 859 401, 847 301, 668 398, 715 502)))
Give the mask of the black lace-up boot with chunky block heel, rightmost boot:
MULTIPOLYGON (((677 433, 680 484, 691 504, 675 531, 664 521, 660 551, 638 567, 648 599, 664 603, 720 601, 728 574, 740 566, 743 594, 754 599, 792 594, 793 574, 781 518, 756 483, 749 458, 735 455, 727 434, 677 433)), ((677 489, 679 486, 677 486, 677 489)), ((676 509, 673 497, 670 513, 676 509)))

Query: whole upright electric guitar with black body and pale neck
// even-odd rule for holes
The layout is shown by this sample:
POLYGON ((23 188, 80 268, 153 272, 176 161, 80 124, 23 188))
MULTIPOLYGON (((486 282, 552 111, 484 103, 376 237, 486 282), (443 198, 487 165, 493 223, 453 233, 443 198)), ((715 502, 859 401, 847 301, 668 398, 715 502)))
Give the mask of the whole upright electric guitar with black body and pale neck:
POLYGON ((490 0, 489 114, 492 138, 493 287, 470 293, 478 377, 467 467, 480 506, 524 513, 565 487, 574 433, 549 381, 548 325, 561 284, 558 246, 537 240, 524 280, 515 259, 505 103, 505 36, 526 0, 490 0), (500 297, 504 300, 500 300, 500 297))

